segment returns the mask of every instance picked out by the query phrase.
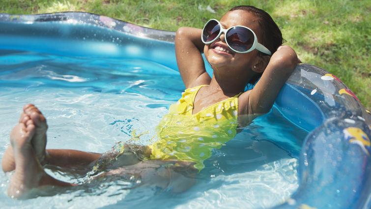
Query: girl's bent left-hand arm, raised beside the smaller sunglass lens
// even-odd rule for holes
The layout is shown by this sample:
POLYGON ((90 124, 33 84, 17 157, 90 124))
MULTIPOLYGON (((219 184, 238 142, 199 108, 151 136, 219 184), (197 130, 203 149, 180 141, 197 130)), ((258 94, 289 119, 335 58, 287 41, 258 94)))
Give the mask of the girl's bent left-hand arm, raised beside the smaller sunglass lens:
POLYGON ((210 84, 211 78, 201 56, 203 47, 201 29, 181 27, 176 31, 176 62, 186 88, 210 84))

